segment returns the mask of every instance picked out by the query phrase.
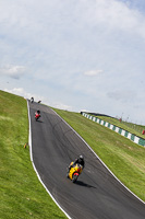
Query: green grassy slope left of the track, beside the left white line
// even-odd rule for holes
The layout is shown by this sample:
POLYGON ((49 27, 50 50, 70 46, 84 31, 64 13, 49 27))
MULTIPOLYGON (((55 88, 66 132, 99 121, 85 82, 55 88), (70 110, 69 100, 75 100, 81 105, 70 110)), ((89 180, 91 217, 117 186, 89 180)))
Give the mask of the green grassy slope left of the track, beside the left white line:
POLYGON ((0 218, 67 218, 39 183, 29 160, 27 105, 0 91, 0 218))

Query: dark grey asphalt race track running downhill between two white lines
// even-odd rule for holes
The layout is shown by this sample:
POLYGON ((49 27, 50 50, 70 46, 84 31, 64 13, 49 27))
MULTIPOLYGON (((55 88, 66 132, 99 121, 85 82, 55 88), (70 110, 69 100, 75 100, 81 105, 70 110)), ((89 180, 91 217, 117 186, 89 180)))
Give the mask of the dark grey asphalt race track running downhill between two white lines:
POLYGON ((32 151, 41 181, 72 219, 145 219, 145 204, 105 168, 86 143, 51 108, 29 102, 32 151), (41 117, 35 122, 39 108, 41 117), (77 155, 85 169, 73 184, 67 166, 77 155))

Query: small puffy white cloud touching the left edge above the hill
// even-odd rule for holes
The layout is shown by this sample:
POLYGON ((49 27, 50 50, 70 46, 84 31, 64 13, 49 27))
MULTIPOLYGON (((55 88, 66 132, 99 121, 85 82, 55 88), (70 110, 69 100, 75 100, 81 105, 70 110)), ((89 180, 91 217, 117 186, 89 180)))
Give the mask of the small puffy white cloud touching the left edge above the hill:
POLYGON ((20 79, 25 72, 24 66, 11 66, 7 65, 0 67, 0 74, 9 76, 14 79, 20 79))

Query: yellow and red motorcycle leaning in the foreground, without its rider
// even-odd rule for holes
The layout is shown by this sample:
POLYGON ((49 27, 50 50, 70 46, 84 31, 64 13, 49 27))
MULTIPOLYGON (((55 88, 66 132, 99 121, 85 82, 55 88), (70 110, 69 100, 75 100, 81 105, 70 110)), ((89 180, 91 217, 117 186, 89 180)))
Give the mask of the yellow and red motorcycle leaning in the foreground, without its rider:
POLYGON ((78 178, 78 175, 82 173, 83 171, 83 166, 78 163, 76 163, 75 165, 73 165, 73 162, 71 162, 72 168, 70 169, 69 173, 68 173, 68 177, 75 183, 78 178))

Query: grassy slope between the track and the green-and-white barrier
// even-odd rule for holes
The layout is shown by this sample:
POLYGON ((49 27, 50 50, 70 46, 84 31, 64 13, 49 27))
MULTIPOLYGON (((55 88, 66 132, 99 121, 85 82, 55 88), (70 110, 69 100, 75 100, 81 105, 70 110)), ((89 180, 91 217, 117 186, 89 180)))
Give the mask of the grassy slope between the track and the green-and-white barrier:
POLYGON ((85 139, 114 175, 145 201, 145 148, 78 113, 55 111, 85 139))

